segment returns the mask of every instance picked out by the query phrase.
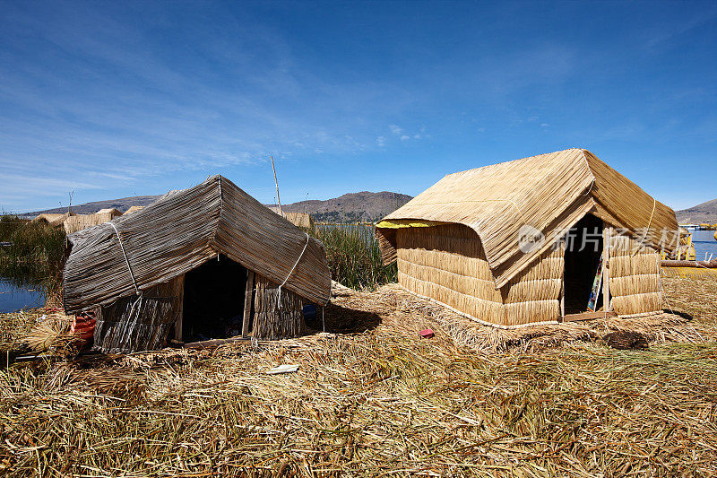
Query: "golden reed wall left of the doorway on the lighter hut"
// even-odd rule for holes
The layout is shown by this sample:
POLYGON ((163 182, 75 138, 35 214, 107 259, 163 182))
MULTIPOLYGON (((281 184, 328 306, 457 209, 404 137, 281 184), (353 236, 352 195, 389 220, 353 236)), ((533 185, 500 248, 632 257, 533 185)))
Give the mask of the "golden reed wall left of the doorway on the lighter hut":
POLYGON ((562 248, 497 290, 479 237, 466 226, 399 229, 396 244, 399 283, 409 291, 502 326, 560 317, 562 248))

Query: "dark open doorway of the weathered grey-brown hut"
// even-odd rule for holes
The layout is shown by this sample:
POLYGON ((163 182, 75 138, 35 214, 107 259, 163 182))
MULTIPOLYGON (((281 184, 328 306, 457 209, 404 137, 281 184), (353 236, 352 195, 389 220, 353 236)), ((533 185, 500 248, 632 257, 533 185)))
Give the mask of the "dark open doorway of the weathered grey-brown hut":
POLYGON ((185 274, 183 342, 241 335, 246 268, 220 255, 185 274))

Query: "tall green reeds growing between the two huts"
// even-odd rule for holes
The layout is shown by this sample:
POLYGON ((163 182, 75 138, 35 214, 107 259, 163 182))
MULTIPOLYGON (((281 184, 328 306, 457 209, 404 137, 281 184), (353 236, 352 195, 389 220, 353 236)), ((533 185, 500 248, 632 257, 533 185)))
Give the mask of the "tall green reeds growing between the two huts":
POLYGON ((396 282, 396 265, 383 265, 372 226, 317 225, 307 232, 324 243, 334 281, 352 289, 371 291, 384 283, 396 282))

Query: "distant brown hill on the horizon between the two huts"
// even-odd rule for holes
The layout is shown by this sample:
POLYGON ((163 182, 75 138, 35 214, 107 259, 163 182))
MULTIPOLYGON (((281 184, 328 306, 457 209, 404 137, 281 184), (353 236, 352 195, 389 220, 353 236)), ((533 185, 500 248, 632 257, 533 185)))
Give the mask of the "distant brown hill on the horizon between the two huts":
POLYGON ((361 191, 325 201, 311 199, 293 204, 281 204, 281 209, 287 213, 309 213, 314 217, 314 221, 318 222, 373 222, 388 213, 393 213, 411 199, 412 196, 389 191, 380 193, 361 191))

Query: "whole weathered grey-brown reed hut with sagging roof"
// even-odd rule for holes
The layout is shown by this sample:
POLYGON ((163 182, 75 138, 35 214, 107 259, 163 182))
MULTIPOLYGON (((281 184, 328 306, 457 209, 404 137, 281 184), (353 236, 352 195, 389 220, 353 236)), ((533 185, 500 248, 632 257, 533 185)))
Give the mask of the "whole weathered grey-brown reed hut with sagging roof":
POLYGON ((221 176, 68 239, 65 311, 96 310, 103 352, 297 336, 330 296, 321 242, 221 176))

